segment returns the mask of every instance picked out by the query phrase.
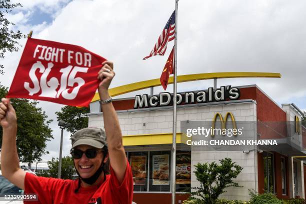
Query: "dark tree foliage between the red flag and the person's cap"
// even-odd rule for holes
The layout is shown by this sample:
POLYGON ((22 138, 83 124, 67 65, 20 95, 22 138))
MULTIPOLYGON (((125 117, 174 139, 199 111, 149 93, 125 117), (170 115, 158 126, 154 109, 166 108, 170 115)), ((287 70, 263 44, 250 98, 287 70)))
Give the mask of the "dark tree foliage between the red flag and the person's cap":
POLYGON ((55 112, 57 121, 63 120, 64 122, 72 124, 66 128, 71 134, 88 126, 88 116, 86 115, 89 112, 88 107, 65 105, 60 110, 59 112, 55 112))

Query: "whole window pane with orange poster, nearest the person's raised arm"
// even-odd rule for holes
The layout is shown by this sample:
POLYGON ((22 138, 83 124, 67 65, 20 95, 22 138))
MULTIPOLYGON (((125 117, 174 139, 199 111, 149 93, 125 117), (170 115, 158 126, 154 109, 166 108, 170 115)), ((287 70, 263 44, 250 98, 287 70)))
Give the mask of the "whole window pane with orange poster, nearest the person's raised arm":
POLYGON ((148 152, 128 152, 132 170, 134 191, 147 191, 148 152))

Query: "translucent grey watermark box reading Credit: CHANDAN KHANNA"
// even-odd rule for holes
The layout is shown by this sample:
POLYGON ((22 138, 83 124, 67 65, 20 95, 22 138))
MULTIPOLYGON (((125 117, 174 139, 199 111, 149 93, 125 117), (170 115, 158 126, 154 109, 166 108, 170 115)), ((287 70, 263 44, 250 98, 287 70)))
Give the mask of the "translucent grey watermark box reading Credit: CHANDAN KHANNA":
POLYGON ((194 150, 277 148, 279 141, 269 137, 270 130, 258 127, 257 121, 182 121, 180 139, 194 150))

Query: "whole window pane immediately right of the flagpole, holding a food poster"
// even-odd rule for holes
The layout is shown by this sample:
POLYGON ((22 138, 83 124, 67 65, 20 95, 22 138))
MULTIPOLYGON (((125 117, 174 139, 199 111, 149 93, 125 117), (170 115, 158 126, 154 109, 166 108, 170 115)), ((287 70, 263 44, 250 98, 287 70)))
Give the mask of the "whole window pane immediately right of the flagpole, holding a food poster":
POLYGON ((176 151, 176 191, 189 192, 191 187, 191 151, 176 151))

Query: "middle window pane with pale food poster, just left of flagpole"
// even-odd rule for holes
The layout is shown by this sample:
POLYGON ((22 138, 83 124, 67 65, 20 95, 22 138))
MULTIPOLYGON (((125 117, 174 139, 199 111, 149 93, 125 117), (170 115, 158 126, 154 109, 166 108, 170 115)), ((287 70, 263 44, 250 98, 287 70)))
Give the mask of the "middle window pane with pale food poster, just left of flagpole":
POLYGON ((170 158, 170 151, 150 151, 149 191, 170 191, 170 158))

